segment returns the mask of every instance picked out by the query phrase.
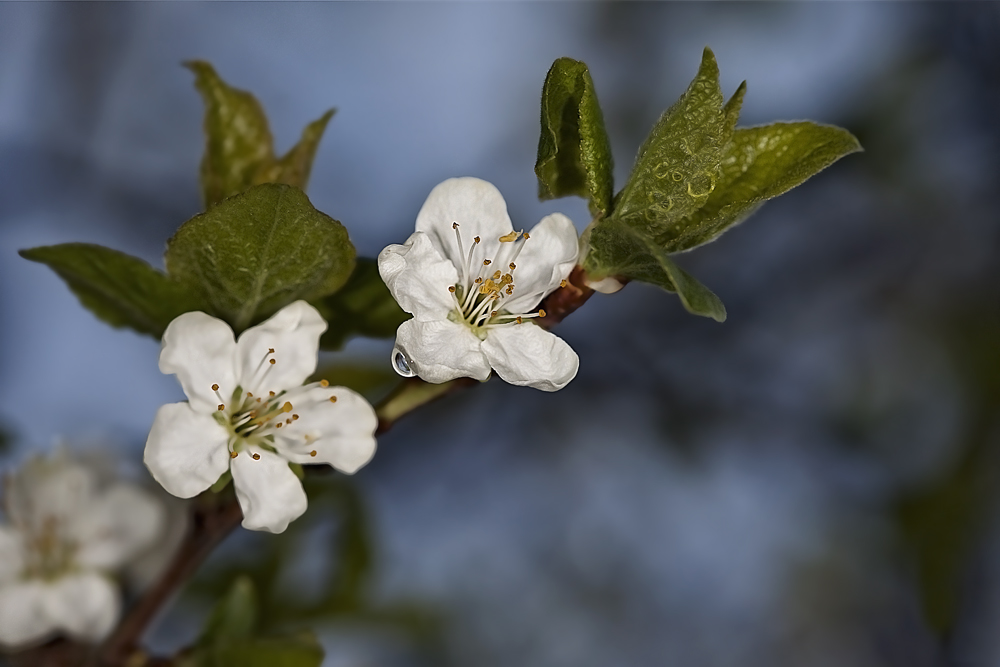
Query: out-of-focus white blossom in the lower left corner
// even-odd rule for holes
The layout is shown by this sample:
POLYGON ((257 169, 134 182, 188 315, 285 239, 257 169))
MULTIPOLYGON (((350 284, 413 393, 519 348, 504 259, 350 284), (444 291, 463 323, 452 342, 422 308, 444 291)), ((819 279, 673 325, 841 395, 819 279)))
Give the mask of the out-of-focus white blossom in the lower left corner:
POLYGON ((64 451, 5 479, 0 524, 0 644, 20 648, 65 633, 96 642, 118 620, 112 573, 154 542, 159 504, 64 451))

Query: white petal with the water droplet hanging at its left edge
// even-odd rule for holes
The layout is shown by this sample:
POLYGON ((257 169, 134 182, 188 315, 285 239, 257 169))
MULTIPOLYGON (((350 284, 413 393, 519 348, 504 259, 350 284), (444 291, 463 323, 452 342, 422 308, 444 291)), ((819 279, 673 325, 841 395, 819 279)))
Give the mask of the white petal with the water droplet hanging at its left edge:
POLYGON ((396 330, 396 347, 410 368, 425 382, 439 384, 459 377, 484 382, 490 365, 480 341, 463 324, 449 320, 407 320, 396 330))

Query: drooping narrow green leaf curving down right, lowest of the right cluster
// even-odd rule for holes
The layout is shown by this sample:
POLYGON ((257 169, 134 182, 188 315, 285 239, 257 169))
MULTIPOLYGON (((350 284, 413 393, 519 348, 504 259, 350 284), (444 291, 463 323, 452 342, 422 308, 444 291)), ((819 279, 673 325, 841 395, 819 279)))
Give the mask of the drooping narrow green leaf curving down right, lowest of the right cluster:
POLYGON ((688 312, 726 320, 726 307, 710 289, 681 269, 655 241, 617 220, 602 220, 590 236, 584 268, 594 278, 622 276, 676 292, 688 312))

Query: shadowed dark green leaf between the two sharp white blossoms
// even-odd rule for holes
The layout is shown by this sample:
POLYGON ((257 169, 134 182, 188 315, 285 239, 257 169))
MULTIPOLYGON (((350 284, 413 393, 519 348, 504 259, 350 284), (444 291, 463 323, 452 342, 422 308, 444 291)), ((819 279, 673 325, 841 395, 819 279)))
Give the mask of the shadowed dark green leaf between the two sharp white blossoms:
POLYGON ((378 262, 360 257, 344 286, 316 303, 330 328, 320 339, 324 350, 338 350, 348 338, 392 338, 410 319, 392 298, 378 273, 378 262))

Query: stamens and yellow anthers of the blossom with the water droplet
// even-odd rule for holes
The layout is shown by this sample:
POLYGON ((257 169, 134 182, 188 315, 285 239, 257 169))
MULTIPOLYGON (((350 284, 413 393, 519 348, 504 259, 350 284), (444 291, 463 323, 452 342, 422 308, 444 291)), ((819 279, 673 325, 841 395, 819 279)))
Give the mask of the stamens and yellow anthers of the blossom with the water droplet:
MULTIPOLYGON (((470 246, 466 246, 462 241, 459 224, 453 222, 451 226, 455 230, 459 253, 464 253, 466 247, 469 248, 469 252, 465 263, 460 267, 459 282, 448 288, 455 302, 455 310, 452 311, 450 319, 462 322, 477 336, 485 338, 489 329, 521 324, 534 317, 545 317, 544 310, 535 313, 516 313, 505 307, 506 303, 513 300, 517 291, 514 282, 517 270, 515 260, 521 254, 525 242, 531 238, 527 232, 512 231, 501 236, 498 239, 500 247, 496 254, 492 258, 484 257, 480 260, 477 257, 477 254, 480 254, 477 250, 482 239, 477 236, 472 239, 470 246)), ((539 298, 542 295, 541 292, 537 294, 539 298)))

